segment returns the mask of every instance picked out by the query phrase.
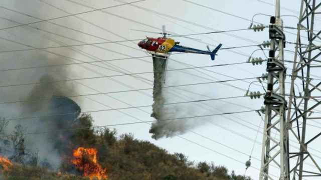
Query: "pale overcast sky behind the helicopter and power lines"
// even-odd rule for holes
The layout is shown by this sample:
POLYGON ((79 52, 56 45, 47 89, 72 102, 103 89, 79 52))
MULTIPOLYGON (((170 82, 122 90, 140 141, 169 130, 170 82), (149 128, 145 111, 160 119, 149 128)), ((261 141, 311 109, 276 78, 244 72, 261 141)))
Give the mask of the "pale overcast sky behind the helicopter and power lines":
MULTIPOLYGON (((69 0, 1 0, 3 7, 26 13, 39 19, 49 19, 67 15, 69 13, 77 13, 92 10, 92 8, 103 8, 122 3, 116 0, 75 0, 79 3, 75 4, 69 0), (89 8, 92 7, 92 8, 89 8)), ((105 9, 105 13, 94 11, 84 13, 67 18, 52 20, 51 22, 64 25, 75 30, 66 29, 62 26, 50 24, 47 22, 32 24, 32 27, 39 27, 53 33, 36 30, 30 27, 16 27, 7 30, 1 30, 0 35, 3 38, 12 39, 21 43, 31 45, 33 47, 49 47, 61 44, 80 44, 106 42, 107 40, 125 40, 139 39, 145 36, 157 36, 157 34, 133 31, 131 29, 141 29, 147 31, 160 31, 162 25, 166 25, 169 32, 177 34, 189 34, 198 32, 208 32, 213 30, 231 30, 247 28, 251 19, 256 13, 265 13, 273 15, 275 13, 274 6, 267 3, 274 3, 274 0, 191 0, 205 6, 215 8, 219 11, 211 10, 205 7, 197 6, 184 0, 145 0, 135 3, 137 6, 123 5, 114 8, 105 9), (146 8, 141 9, 140 7, 146 8), (238 18, 227 13, 240 16, 238 18), (54 34, 55 33, 55 34, 54 34), (59 34, 59 35, 57 35, 59 34), (63 36, 65 37, 63 37, 63 36), (74 40, 73 40, 74 39, 74 40), (57 42, 59 41, 59 43, 57 42)), ((282 15, 298 16, 300 0, 281 0, 282 15)), ((1 28, 17 25, 17 23, 8 21, 15 20, 20 23, 28 23, 39 19, 19 14, 2 8, 0 19, 1 28), (7 18, 7 20, 6 20, 7 18)), ((255 21, 268 24, 269 17, 257 15, 255 21)), ((283 17, 284 24, 296 27, 297 19, 295 17, 283 17)), ((318 22, 317 22, 318 23, 318 22)), ((295 41, 295 30, 287 29, 294 34, 287 33, 288 41, 295 41)), ((201 41, 176 37, 182 45, 206 49, 206 45, 214 48, 217 44, 223 43, 223 47, 233 47, 242 45, 253 45, 268 40, 268 30, 263 32, 254 32, 253 30, 244 30, 230 33, 216 33, 210 35, 197 35, 194 38, 201 41)), ((126 57, 146 56, 146 53, 139 49, 136 45, 138 41, 121 42, 120 44, 107 43, 97 46, 86 45, 69 48, 54 48, 49 51, 63 54, 65 56, 79 59, 81 61, 107 60, 126 57), (103 48, 99 48, 103 47, 103 48), (72 50, 72 52, 71 52, 72 50), (81 50, 81 51, 80 51, 81 50), (85 52, 85 53, 80 53, 85 52)), ((31 48, 26 45, 17 44, 8 40, 2 40, 0 50, 24 49, 31 48)), ((249 55, 258 49, 258 47, 245 47, 231 50, 220 50, 215 61, 211 61, 208 55, 200 54, 173 54, 169 61, 169 69, 184 68, 188 65, 205 66, 224 63, 245 62, 249 55)), ((294 50, 293 46, 288 45, 288 50, 294 50)), ((19 51, 3 53, 0 59, 4 65, 1 68, 19 68, 28 66, 39 66, 47 64, 56 64, 54 62, 57 55, 45 51, 19 51), (34 54, 41 54, 45 59, 32 58, 34 54), (13 58, 14 57, 14 58, 13 58)), ((264 57, 262 51, 256 51, 254 57, 264 57)), ((59 56, 62 58, 61 56, 59 56)), ((285 53, 285 59, 293 59, 292 53, 285 53)), ((64 63, 70 63, 70 59, 66 59, 64 63)), ((60 61, 59 63, 62 63, 60 61)), ((135 72, 151 72, 151 57, 131 58, 123 60, 108 61, 104 64, 95 63, 83 65, 68 65, 54 68, 46 68, 50 73, 55 74, 57 78, 85 78, 96 77, 102 75, 116 75, 135 72), (107 68, 106 68, 107 67, 107 68), (60 68, 67 68, 71 71, 68 77, 59 76, 60 68), (116 71, 114 71, 116 70, 116 71)), ((289 67, 292 64, 286 64, 289 67)), ((209 82, 216 80, 257 77, 265 73, 266 65, 238 64, 207 68, 214 72, 198 69, 184 71, 169 71, 166 85, 189 84, 199 82, 209 82), (188 73, 186 73, 188 72, 188 73), (219 74, 220 73, 220 74, 219 74), (222 75, 223 74, 223 75, 222 75), (230 76, 230 77, 228 77, 230 76)), ((6 73, 7 79, 1 78, 2 84, 17 84, 37 81, 40 76, 34 76, 34 69, 2 72, 6 73), (24 77, 24 78, 22 78, 24 77), (28 77, 29 81, 26 80, 28 77), (27 82, 26 82, 27 81, 27 82)), ((315 72, 319 73, 319 72, 315 72)), ((37 73, 39 74, 39 73, 37 73)), ((141 80, 137 76, 118 76, 112 78, 96 78, 87 80, 78 80, 70 82, 73 88, 77 89, 78 94, 89 94, 99 92, 113 92, 129 89, 142 89, 152 87, 152 73, 141 74, 141 77, 149 79, 149 81, 141 80), (119 83, 120 82, 120 83, 119 83), (89 88, 89 87, 90 88, 89 88)), ((287 82, 290 79, 287 79, 287 82)), ((247 80, 251 82, 252 80, 247 80)), ((235 88, 222 83, 210 83, 193 86, 183 86, 180 89, 171 88, 168 93, 173 96, 173 102, 189 101, 207 98, 219 98, 244 95, 249 87, 248 82, 233 81, 235 88), (182 90, 183 89, 183 90, 182 90), (186 92, 188 90, 190 92, 186 92), (191 93, 193 92, 193 93, 191 93)), ((287 84, 289 87, 289 84, 287 84)), ((61 87, 64 88, 64 87, 61 87)), ((19 88, 2 89, 1 101, 12 101, 19 99, 21 94, 28 94, 30 86, 19 88), (17 94, 17 98, 9 99, 8 94, 17 94)), ((259 85, 251 85, 251 91, 261 91, 259 85)), ((70 94, 75 95, 75 94, 70 94)), ((77 97, 73 98, 77 101, 83 111, 104 110, 109 108, 121 108, 130 106, 141 106, 152 104, 152 91, 132 91, 122 93, 109 93, 107 95, 91 95, 89 98, 77 97)), ((12 96, 10 96, 12 98, 12 96)), ((198 103, 182 104, 186 108, 193 109, 194 115, 206 115, 222 112, 235 112, 242 110, 259 109, 263 105, 263 98, 251 100, 249 97, 232 98, 226 100, 212 100, 198 103)), ((92 112, 95 125, 107 125, 126 122, 137 122, 139 120, 153 120, 150 117, 151 107, 143 107, 140 109, 130 108, 124 110, 110 110, 92 112), (144 112, 147 111, 147 112, 144 112)), ((12 112, 13 116, 18 116, 12 112)), ((260 167, 261 141, 262 135, 256 133, 258 126, 263 127, 263 122, 256 112, 247 112, 233 115, 218 115, 197 118, 195 120, 204 121, 203 125, 190 129, 193 132, 187 132, 182 137, 162 138, 154 140, 148 133, 150 124, 139 123, 123 126, 115 126, 118 134, 132 133, 136 138, 148 140, 159 147, 165 148, 171 153, 182 152, 186 154, 190 160, 213 161, 215 164, 225 165, 229 170, 235 170, 237 174, 245 172, 245 161, 249 159, 249 154, 253 147, 253 140, 256 140, 252 154, 252 166, 260 167), (204 138, 206 137, 206 138, 204 138), (198 144, 192 143, 196 142, 198 144), (221 144, 220 144, 221 143, 221 144), (230 147, 234 148, 231 149, 230 147), (214 152, 217 151, 217 152, 214 152), (229 158, 229 157, 231 158, 229 158), (240 162, 243 163, 240 163, 240 162)), ((262 129, 260 129, 260 132, 262 129)), ((314 147, 316 147, 315 145, 314 147)), ((312 153, 320 154, 320 151, 312 151, 312 153)), ((317 158, 320 161, 320 158, 317 158)), ((271 173, 278 175, 278 171, 272 167, 271 173)), ((251 175, 254 179, 258 179, 259 171, 254 168, 248 169, 247 175, 251 175)))

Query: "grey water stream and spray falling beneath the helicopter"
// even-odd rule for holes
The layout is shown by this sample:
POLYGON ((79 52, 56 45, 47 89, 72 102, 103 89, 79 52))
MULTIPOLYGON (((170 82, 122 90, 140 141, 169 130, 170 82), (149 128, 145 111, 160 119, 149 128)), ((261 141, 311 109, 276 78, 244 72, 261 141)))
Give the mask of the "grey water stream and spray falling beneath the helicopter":
MULTIPOLYGON (((188 129, 196 125, 203 124, 204 121, 195 121, 194 119, 182 119, 181 117, 195 115, 195 109, 188 104, 171 104, 173 102, 173 88, 164 88, 165 80, 178 81, 176 76, 166 74, 168 59, 153 57, 154 85, 153 85, 153 104, 152 114, 157 121, 152 123, 149 133, 152 138, 172 137, 177 134, 183 134, 188 129), (166 78, 166 79, 165 79, 166 78), (179 119, 175 119, 179 118, 179 119), (173 120, 169 120, 173 119, 173 120)), ((175 95, 175 94, 174 94, 175 95)), ((190 99, 189 99, 190 100, 190 99)))

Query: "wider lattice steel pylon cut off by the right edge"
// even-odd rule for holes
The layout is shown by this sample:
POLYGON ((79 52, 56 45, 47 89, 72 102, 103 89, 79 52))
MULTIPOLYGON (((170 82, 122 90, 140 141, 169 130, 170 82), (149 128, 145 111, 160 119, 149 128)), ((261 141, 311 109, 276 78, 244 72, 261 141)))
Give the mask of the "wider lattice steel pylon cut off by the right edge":
MULTIPOLYGON (((291 76, 290 96, 287 111, 288 131, 291 138, 295 139, 299 150, 290 152, 289 158, 293 161, 289 173, 292 179, 301 180, 308 177, 319 179, 321 168, 309 152, 309 145, 312 145, 319 136, 321 130, 312 129, 310 121, 320 120, 321 117, 313 113, 321 104, 319 99, 313 96, 320 95, 320 80, 311 78, 311 72, 319 73, 321 61, 316 58, 321 55, 320 27, 314 24, 315 18, 320 14, 318 10, 321 0, 301 0, 299 22, 297 25, 297 39, 294 54, 294 63, 291 76), (318 1, 318 2, 317 2, 318 1), (304 37, 303 37, 304 36, 304 37), (302 92, 295 90, 295 83, 302 84, 302 92), (306 164, 309 163, 309 166, 306 164), (311 167, 314 166, 314 167, 311 167)), ((320 15, 319 15, 320 17, 320 15)), ((320 147, 320 144, 315 144, 320 147)))

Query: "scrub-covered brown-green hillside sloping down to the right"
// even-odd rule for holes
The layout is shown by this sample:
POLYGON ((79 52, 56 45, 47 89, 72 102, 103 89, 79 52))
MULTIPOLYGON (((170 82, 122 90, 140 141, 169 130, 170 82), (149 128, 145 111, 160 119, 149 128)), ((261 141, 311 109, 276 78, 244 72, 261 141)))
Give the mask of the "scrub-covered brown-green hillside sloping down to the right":
MULTIPOLYGON (((88 114, 83 114, 73 125, 74 128, 91 126, 92 118, 88 114)), ((106 177, 108 176, 107 178, 110 180, 250 179, 250 177, 236 176, 233 172, 229 173, 226 167, 216 166, 214 163, 200 162, 195 164, 182 153, 170 154, 165 149, 148 141, 135 139, 130 134, 122 134, 117 137, 116 131, 108 128, 76 130, 69 138, 65 143, 69 145, 64 147, 64 151, 61 152, 63 162, 59 169, 52 169, 49 165, 45 166, 44 162, 37 162, 33 165, 7 164, 8 169, 6 169, 6 165, 2 163, 2 179, 86 179, 82 177, 86 166, 77 166, 73 163, 77 159, 73 154, 77 147, 96 149, 97 164, 100 168, 98 171, 105 170, 106 177)), ((88 162, 90 164, 90 158, 96 158, 90 153, 88 151, 87 154, 82 154, 81 163, 88 162)), ((94 168, 98 168, 98 166, 94 166, 94 168)), ((91 172, 98 171, 91 169, 91 172)))

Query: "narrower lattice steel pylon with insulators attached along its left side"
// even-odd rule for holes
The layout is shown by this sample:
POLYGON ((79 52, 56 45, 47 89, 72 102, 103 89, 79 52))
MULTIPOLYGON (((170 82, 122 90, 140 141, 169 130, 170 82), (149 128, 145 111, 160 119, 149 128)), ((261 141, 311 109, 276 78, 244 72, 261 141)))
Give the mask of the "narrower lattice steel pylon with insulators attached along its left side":
POLYGON ((264 96, 265 123, 263 131, 260 180, 275 179, 269 173, 272 165, 279 167, 280 180, 288 180, 288 133, 286 129, 285 110, 285 76, 283 48, 285 35, 283 21, 280 18, 280 1, 276 0, 275 16, 269 25, 270 50, 267 59, 267 92, 264 96), (278 137, 278 138, 277 138, 278 137))

